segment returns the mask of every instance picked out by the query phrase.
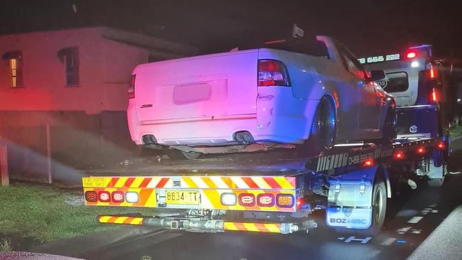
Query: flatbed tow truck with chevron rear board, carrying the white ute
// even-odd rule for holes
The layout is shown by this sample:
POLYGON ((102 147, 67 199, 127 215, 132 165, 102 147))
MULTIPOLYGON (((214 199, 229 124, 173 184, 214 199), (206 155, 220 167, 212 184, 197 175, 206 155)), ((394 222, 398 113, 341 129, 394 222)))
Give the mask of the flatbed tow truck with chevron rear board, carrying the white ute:
MULTIPOLYGON (((415 61, 400 56, 376 60, 391 59, 397 67, 415 61)), ((431 104, 416 107, 417 98, 414 104, 403 103, 398 129, 412 125, 406 126, 408 131, 398 131, 392 143, 343 143, 308 158, 276 150, 166 160, 109 175, 90 173, 82 178, 85 205, 133 210, 133 214, 97 216, 102 224, 279 234, 309 232, 318 227, 313 212, 323 210, 326 225, 338 232, 377 234, 385 221, 387 200, 397 195, 403 183, 414 188, 416 178, 426 178, 430 185, 444 183, 448 124, 444 99, 433 99, 436 90, 444 90, 444 84, 431 77, 437 73, 435 68, 429 65, 417 72, 428 77, 415 78, 409 72, 404 83, 419 83, 412 94, 431 90, 431 104), (419 117, 409 117, 407 111, 419 117), (153 213, 141 215, 136 212, 139 207, 153 213)))

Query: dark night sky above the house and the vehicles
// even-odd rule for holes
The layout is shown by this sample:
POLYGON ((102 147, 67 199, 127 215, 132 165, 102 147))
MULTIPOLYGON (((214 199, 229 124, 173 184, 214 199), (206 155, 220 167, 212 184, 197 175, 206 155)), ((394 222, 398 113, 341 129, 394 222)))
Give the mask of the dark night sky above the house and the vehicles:
POLYGON ((431 43, 436 55, 461 57, 458 2, 6 0, 0 9, 0 34, 104 25, 213 53, 256 39, 289 36, 291 24, 297 23, 306 34, 337 38, 358 56, 431 43))

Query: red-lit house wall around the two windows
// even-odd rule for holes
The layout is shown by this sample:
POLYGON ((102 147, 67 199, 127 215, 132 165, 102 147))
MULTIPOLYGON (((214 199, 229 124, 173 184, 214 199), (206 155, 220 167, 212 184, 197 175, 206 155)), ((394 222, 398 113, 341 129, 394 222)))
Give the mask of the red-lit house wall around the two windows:
POLYGON ((16 111, 124 111, 131 70, 146 63, 148 50, 115 43, 101 36, 102 28, 0 36, 0 55, 20 50, 23 87, 11 87, 11 70, 0 61, 0 110, 16 111), (62 48, 77 46, 80 85, 65 86, 65 65, 58 58, 62 48))

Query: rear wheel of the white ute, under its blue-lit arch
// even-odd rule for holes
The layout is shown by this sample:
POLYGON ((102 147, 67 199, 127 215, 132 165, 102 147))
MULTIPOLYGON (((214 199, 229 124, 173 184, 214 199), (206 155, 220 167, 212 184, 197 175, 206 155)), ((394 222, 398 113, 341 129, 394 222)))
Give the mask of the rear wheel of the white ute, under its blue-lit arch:
POLYGON ((299 147, 299 153, 303 156, 316 156, 332 148, 335 143, 336 120, 333 102, 328 97, 323 97, 311 123, 310 136, 299 147))

